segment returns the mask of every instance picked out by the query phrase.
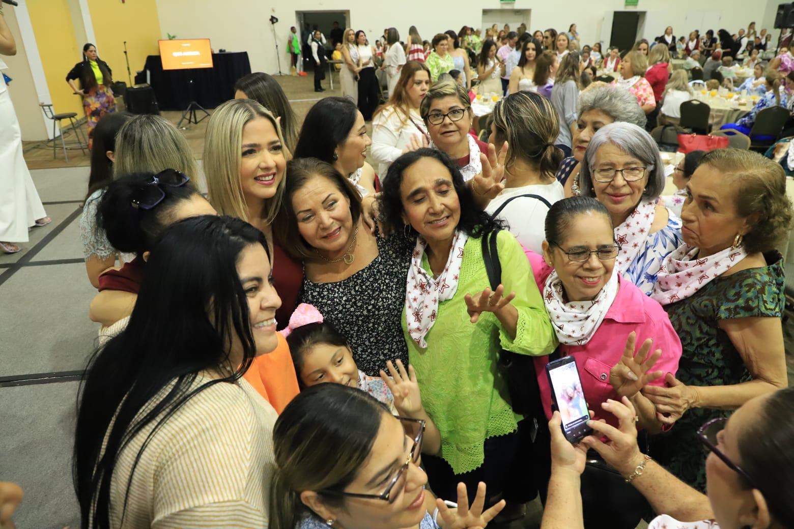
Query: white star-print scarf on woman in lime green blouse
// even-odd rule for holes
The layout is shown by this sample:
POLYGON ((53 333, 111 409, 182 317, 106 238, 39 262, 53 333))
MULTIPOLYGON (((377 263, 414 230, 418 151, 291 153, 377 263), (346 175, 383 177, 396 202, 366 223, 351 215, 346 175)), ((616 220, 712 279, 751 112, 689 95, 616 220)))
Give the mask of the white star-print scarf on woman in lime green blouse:
POLYGON ((416 247, 408 268, 405 317, 410 337, 422 349, 427 347, 425 335, 430 332, 438 316, 438 303, 452 299, 457 292, 457 280, 461 275, 461 263, 463 263, 463 247, 467 240, 466 232, 462 230, 455 232, 444 271, 434 278, 422 268, 422 255, 425 254, 427 241, 422 236, 416 239, 416 247))

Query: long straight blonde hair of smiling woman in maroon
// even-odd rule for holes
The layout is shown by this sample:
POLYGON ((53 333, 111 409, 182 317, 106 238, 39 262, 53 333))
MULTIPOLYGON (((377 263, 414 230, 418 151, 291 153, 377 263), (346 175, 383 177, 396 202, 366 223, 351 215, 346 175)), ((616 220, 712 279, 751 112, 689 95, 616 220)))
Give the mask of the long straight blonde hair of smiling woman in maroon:
MULTIPOLYGON (((232 99, 215 109, 206 127, 204 140, 204 174, 210 204, 221 215, 229 215, 251 222, 240 183, 242 165, 243 128, 249 121, 264 117, 270 121, 279 141, 284 144, 281 128, 268 109, 251 99, 232 99)), ((264 202, 263 219, 271 224, 279 211, 284 195, 281 178, 276 195, 264 202)))

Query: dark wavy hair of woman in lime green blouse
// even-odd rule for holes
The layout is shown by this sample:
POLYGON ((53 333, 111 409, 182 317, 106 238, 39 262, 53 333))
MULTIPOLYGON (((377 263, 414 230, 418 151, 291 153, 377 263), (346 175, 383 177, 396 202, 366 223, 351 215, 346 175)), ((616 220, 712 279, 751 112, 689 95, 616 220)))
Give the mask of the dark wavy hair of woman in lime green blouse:
MULTIPOLYGON (((475 155, 479 155, 476 153, 475 155)), ((461 220, 458 220, 457 228, 468 233, 469 236, 480 237, 490 232, 502 229, 503 224, 485 213, 474 201, 472 190, 463 181, 461 170, 457 163, 449 158, 444 151, 433 148, 421 148, 395 159, 384 179, 384 190, 378 199, 380 202, 380 220, 386 224, 387 228, 395 234, 403 234, 406 231, 406 224, 403 222, 403 198, 400 196, 400 185, 403 183, 403 173, 405 170, 418 162, 422 158, 433 158, 441 162, 452 175, 453 186, 457 199, 461 203, 461 220)), ((410 224, 410 236, 418 236, 410 224)))

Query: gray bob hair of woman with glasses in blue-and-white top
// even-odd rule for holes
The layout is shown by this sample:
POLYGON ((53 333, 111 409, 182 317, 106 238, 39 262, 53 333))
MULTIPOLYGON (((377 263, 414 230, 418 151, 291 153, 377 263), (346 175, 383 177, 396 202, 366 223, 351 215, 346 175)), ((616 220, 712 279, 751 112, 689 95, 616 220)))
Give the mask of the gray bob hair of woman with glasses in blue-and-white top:
MULTIPOLYGON (((628 92, 626 92, 628 94, 628 92)), ((633 98, 633 97, 632 97, 633 98)), ((626 155, 633 156, 648 166, 648 183, 642 197, 655 200, 665 189, 665 166, 661 163, 656 142, 644 128, 633 123, 610 123, 595 132, 588 150, 584 152, 579 171, 579 187, 584 197, 595 197, 591 167, 595 164, 595 153, 605 144, 613 144, 626 155)))

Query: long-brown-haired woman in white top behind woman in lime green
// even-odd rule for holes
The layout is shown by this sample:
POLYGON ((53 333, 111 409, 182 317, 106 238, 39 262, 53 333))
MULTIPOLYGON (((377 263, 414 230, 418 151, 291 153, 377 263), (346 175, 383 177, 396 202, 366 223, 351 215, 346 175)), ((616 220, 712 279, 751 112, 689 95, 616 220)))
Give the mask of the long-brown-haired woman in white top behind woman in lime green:
MULTIPOLYGON (((399 43, 398 43, 399 45, 399 43)), ((389 90, 388 102, 372 117, 372 158, 378 163, 380 179, 391 162, 408 151, 430 144, 430 136, 419 113, 419 105, 430 90, 430 70, 425 63, 408 61, 389 90)))

